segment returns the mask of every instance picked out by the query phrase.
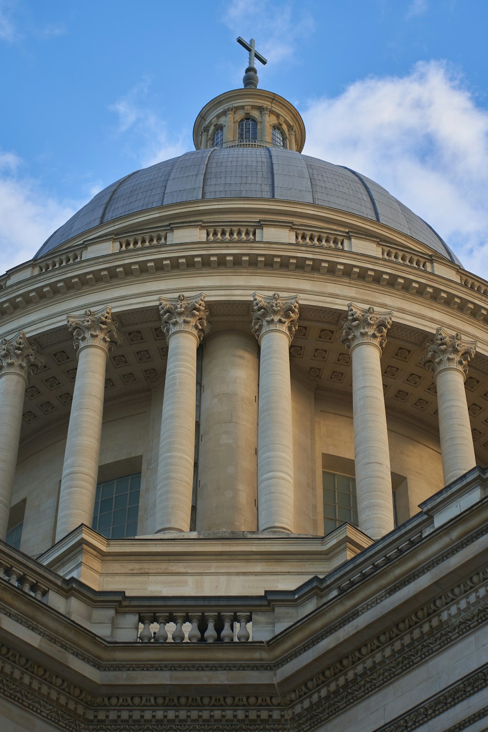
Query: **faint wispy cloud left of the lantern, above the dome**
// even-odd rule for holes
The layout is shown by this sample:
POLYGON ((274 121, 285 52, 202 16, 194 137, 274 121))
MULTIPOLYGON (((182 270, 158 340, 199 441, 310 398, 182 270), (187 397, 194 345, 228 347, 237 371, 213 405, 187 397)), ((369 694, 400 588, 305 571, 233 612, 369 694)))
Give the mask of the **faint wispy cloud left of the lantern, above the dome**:
POLYGON ((116 134, 127 139, 132 157, 142 167, 177 157, 191 148, 189 130, 170 134, 165 120, 151 109, 150 85, 148 79, 141 81, 109 107, 118 118, 116 134))

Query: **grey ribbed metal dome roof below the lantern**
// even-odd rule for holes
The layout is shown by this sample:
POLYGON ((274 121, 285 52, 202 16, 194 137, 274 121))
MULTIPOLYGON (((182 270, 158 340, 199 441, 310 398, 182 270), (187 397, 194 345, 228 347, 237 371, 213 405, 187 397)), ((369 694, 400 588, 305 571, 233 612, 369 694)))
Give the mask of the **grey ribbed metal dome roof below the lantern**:
POLYGON ((443 239, 378 183, 341 165, 271 147, 196 150, 130 173, 97 193, 42 244, 35 258, 127 214, 233 197, 302 201, 357 214, 413 236, 459 264, 443 239))

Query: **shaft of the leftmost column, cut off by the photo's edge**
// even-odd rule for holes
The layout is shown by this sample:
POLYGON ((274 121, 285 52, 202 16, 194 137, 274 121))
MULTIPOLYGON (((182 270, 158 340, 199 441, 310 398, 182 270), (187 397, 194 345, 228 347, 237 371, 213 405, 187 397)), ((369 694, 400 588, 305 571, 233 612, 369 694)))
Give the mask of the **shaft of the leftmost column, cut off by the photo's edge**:
POLYGON ((5 541, 9 521, 18 442, 27 379, 10 371, 0 378, 0 539, 5 541))

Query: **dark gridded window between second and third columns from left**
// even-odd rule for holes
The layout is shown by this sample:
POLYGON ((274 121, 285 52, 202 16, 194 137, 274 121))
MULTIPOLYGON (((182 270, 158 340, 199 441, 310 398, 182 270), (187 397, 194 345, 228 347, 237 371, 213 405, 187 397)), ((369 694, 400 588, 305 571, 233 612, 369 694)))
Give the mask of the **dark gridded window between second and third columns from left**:
POLYGON ((97 485, 93 528, 107 539, 135 537, 138 531, 140 473, 97 485))

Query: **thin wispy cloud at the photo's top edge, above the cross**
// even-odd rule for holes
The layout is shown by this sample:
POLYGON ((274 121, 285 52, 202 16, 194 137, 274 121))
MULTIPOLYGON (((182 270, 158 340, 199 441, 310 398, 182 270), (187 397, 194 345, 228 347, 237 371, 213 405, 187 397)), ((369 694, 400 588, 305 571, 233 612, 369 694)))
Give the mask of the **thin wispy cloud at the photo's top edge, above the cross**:
POLYGON ((236 37, 255 37, 258 51, 274 63, 292 58, 299 42, 315 29, 309 11, 269 0, 236 0, 226 5, 223 20, 236 37))

